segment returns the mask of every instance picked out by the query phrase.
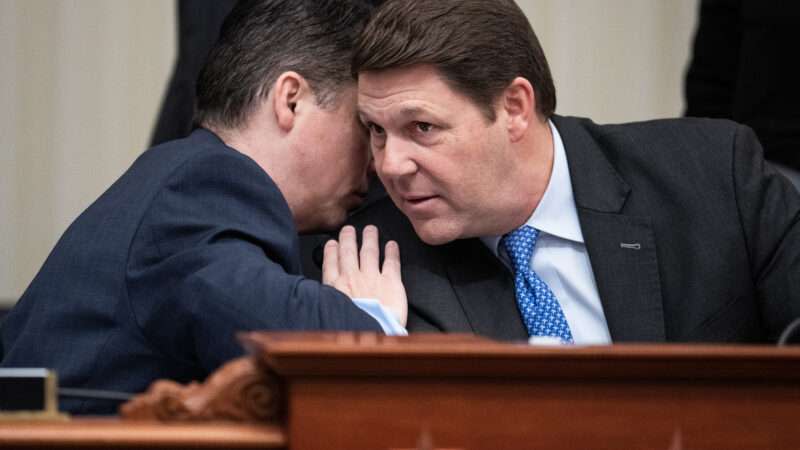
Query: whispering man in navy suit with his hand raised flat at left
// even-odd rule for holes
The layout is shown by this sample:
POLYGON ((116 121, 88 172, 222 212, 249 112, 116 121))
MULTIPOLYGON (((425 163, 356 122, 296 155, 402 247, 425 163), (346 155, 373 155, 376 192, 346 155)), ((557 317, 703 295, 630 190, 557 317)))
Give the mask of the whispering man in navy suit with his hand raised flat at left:
POLYGON ((360 252, 352 228, 326 246, 338 290, 300 274, 297 233, 339 226, 367 188, 350 60, 368 13, 355 0, 239 2, 198 81, 201 128, 145 152, 69 227, 3 323, 2 365, 140 392, 203 379, 242 353, 239 330, 401 329, 398 249, 381 272, 374 227, 360 252), (373 317, 348 296, 386 309, 373 317))

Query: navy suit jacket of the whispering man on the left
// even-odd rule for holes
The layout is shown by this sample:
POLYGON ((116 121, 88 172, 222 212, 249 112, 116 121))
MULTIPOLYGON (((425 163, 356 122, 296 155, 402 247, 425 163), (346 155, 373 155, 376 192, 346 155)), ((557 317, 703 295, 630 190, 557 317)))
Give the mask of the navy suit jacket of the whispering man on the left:
MULTIPOLYGON (((135 393, 157 378, 203 379, 243 353, 239 330, 380 331, 300 271, 278 187, 197 130, 142 154, 64 233, 3 323, 2 365, 135 393)), ((116 406, 62 402, 76 413, 116 406)))

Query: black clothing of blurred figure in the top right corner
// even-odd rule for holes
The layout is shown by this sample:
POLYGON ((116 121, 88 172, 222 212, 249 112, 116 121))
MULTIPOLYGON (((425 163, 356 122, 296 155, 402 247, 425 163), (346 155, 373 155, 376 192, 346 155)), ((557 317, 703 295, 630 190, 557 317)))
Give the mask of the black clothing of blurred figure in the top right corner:
POLYGON ((701 0, 686 115, 755 130, 768 160, 800 170, 800 4, 701 0))

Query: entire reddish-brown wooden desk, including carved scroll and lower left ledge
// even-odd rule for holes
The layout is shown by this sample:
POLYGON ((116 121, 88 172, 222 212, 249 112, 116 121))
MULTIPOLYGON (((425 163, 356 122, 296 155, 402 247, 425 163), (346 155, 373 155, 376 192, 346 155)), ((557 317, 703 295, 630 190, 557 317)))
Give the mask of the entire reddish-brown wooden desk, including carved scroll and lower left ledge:
POLYGON ((0 447, 800 449, 797 347, 533 347, 371 333, 241 339, 252 359, 201 385, 154 384, 131 402, 130 417, 150 421, 0 422, 0 447), (242 388, 251 385, 258 389, 242 388), (160 391, 167 403, 153 401, 160 391), (234 404, 257 392, 270 399, 257 405, 278 402, 282 412, 240 414, 223 401, 228 391, 234 404), (160 412, 175 399, 179 414, 160 412))

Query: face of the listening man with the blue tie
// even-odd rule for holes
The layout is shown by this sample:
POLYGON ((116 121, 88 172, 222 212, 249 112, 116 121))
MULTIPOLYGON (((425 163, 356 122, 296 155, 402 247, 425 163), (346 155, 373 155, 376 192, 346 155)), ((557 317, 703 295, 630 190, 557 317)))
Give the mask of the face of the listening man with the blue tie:
POLYGON ((514 163, 501 108, 490 123, 420 65, 359 74, 358 109, 378 176, 423 241, 499 232, 497 188, 514 163))

